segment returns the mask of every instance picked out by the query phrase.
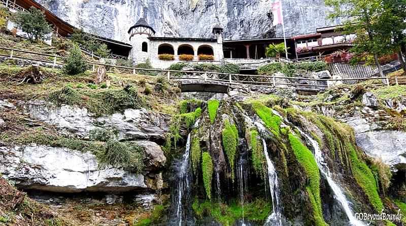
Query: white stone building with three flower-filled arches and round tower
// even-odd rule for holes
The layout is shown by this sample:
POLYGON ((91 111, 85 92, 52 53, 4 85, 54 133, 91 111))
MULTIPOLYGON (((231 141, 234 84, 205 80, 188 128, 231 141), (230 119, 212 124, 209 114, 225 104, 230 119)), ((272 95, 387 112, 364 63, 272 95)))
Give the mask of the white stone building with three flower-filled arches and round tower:
MULTIPOLYGON (((179 56, 189 55, 188 61, 198 61, 201 55, 209 55, 212 60, 222 60, 223 29, 219 25, 213 27, 213 38, 177 38, 155 37, 155 30, 144 18, 128 29, 132 46, 130 57, 134 63, 148 59, 154 68, 168 68, 171 64, 181 61, 179 56), (163 54, 166 58, 163 58, 163 54)), ((207 57, 207 56, 206 56, 207 57)), ((181 57, 182 58, 182 57, 181 57)))

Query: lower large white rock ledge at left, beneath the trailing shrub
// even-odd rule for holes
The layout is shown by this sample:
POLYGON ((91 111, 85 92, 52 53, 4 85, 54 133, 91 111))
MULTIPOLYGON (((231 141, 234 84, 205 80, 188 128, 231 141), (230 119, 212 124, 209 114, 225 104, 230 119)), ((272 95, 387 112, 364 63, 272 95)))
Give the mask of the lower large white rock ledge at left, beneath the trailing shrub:
MULTIPOLYGON (((152 146, 145 142, 144 145, 152 146)), ((157 167, 162 167, 166 158, 159 146, 158 148, 151 148, 150 152, 155 155, 149 157, 157 167)), ((0 147, 0 162, 3 177, 24 189, 124 192, 159 189, 161 187, 157 184, 162 184, 158 179, 154 183, 147 183, 151 178, 143 174, 134 174, 111 166, 101 168, 93 154, 67 148, 36 145, 0 147)))

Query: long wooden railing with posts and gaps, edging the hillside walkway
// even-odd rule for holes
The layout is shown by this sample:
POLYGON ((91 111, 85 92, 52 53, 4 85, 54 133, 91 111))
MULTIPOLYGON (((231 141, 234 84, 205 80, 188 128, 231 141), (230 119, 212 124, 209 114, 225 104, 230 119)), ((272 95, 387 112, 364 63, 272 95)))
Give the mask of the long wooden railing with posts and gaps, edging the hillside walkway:
MULTIPOLYGON (((26 50, 11 49, 6 47, 0 47, 0 49, 10 51, 10 54, 0 54, 0 56, 7 56, 10 59, 20 58, 33 61, 42 61, 51 63, 54 66, 57 64, 63 66, 63 62, 57 62, 58 59, 64 59, 63 56, 31 52, 26 50), (53 57, 53 61, 43 59, 33 59, 25 56, 16 56, 14 53, 29 53, 31 55, 53 57)), ((293 87, 317 87, 319 89, 325 89, 330 86, 329 82, 336 81, 366 81, 366 80, 381 80, 385 81, 383 85, 390 85, 389 77, 370 77, 370 78, 345 78, 345 79, 316 79, 316 78, 301 78, 301 77, 282 77, 273 75, 245 75, 245 74, 230 74, 220 72, 202 72, 202 71, 176 71, 166 69, 144 69, 133 68, 125 66, 117 66, 115 64, 107 64, 93 61, 86 61, 89 66, 92 67, 92 71, 96 71, 96 66, 104 66, 108 69, 108 72, 118 74, 139 74, 149 72, 156 73, 165 76, 168 80, 172 81, 200 81, 200 82, 219 82, 228 85, 245 85, 245 86, 263 86, 263 87, 277 87, 280 85, 288 85, 293 87), (296 81, 304 82, 317 82, 314 84, 297 83, 296 81)))

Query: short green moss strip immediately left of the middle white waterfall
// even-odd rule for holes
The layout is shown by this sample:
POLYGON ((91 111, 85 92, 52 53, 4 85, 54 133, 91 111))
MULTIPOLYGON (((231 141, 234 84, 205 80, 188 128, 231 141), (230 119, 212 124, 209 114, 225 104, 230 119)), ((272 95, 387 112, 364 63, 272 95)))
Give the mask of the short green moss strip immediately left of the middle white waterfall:
POLYGON ((252 167, 255 170, 255 173, 264 178, 265 176, 265 155, 263 153, 263 147, 260 140, 258 140, 258 131, 252 130, 251 135, 251 160, 252 167))

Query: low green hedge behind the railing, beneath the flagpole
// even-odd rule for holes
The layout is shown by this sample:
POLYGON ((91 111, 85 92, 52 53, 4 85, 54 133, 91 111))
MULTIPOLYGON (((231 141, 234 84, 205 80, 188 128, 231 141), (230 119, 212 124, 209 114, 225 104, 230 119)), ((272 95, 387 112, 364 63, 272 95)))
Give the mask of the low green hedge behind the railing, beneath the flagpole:
POLYGON ((327 68, 328 68, 327 63, 324 61, 300 62, 300 63, 273 62, 259 67, 258 74, 273 75, 277 72, 281 72, 286 76, 292 77, 298 70, 308 72, 320 72, 323 70, 327 70, 327 68))

